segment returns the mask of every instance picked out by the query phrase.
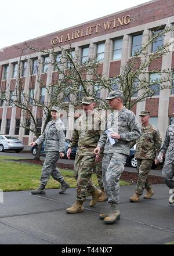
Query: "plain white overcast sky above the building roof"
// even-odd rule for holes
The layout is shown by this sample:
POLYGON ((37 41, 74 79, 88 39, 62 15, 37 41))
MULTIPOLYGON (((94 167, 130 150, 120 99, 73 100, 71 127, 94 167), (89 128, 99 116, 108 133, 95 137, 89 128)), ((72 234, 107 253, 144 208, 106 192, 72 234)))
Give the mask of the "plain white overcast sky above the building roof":
POLYGON ((3 0, 0 3, 0 49, 148 0, 3 0))

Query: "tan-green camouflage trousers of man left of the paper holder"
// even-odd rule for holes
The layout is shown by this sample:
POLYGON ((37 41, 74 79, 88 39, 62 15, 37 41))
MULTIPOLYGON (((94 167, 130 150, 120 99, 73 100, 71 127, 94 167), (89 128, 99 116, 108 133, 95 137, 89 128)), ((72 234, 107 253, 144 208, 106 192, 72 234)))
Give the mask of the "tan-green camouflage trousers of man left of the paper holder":
POLYGON ((96 167, 95 155, 86 155, 75 157, 74 163, 74 178, 77 180, 77 201, 85 201, 87 197, 87 191, 90 193, 96 189, 93 184, 91 175, 93 174, 93 168, 96 167))

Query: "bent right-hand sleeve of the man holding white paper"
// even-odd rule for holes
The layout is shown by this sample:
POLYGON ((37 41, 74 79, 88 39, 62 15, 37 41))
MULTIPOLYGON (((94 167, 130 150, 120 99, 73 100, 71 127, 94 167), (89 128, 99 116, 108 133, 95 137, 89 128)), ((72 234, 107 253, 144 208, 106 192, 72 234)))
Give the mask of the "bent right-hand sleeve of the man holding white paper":
POLYGON ((120 134, 121 140, 131 142, 132 140, 136 140, 141 136, 142 131, 141 131, 140 124, 137 121, 135 114, 133 113, 129 116, 128 127, 130 129, 129 132, 123 132, 122 134, 120 134))

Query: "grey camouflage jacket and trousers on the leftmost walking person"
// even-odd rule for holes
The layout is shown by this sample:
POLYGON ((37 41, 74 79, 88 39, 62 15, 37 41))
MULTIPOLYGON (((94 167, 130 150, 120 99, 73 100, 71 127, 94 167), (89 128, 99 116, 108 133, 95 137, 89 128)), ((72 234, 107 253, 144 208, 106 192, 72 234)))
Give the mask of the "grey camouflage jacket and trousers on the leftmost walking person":
POLYGON ((65 136, 63 122, 58 118, 56 121, 50 121, 46 125, 45 131, 35 141, 37 145, 45 140, 46 158, 42 167, 41 184, 46 186, 50 175, 60 183, 64 181, 59 168, 56 165, 59 159, 59 153, 65 150, 65 136))

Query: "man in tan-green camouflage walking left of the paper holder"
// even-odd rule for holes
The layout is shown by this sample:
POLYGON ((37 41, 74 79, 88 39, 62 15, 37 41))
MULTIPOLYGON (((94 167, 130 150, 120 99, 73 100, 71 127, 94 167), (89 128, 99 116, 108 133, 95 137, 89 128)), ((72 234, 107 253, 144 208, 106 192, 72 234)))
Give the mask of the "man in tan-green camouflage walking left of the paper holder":
MULTIPOLYGON (((77 179, 77 197, 73 206, 67 208, 67 213, 83 212, 83 203, 87 196, 87 190, 92 194, 90 206, 93 207, 102 195, 102 191, 97 189, 91 181, 93 169, 96 167, 99 157, 93 153, 102 131, 102 116, 94 110, 95 102, 92 97, 82 99, 85 114, 82 114, 75 122, 74 134, 68 145, 67 157, 69 158, 73 147, 78 145, 78 150, 74 163, 74 176, 77 179)), ((104 122, 105 124, 105 122, 104 122)))

